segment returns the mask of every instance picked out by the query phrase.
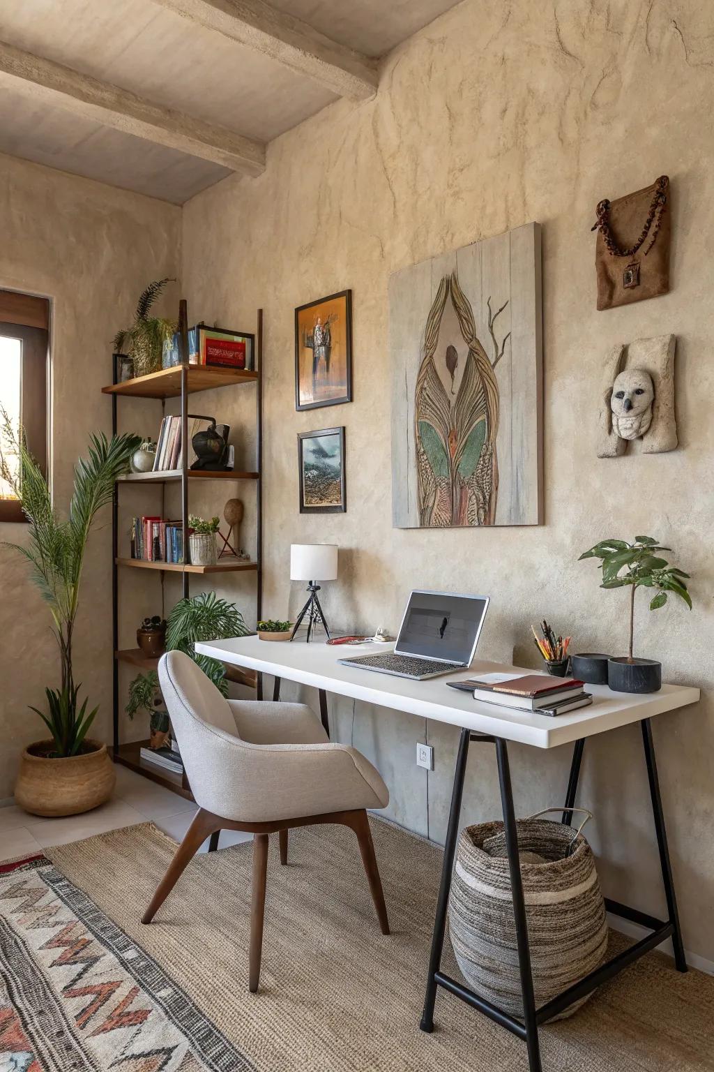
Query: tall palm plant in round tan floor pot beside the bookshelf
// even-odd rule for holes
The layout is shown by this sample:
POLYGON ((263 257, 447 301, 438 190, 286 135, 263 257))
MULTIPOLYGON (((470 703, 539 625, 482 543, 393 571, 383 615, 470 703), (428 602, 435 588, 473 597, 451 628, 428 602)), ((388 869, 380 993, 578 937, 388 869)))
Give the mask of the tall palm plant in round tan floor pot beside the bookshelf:
POLYGON ((60 687, 45 688, 47 713, 32 708, 50 736, 35 741, 22 753, 15 785, 15 800, 33 815, 77 815, 103 804, 115 786, 115 771, 106 745, 87 736, 97 708, 87 710, 75 684, 72 642, 79 609, 85 551, 98 510, 111 502, 115 481, 128 472, 128 462, 140 440, 137 435, 92 435, 86 458, 74 471, 74 492, 66 518, 52 509, 45 476, 2 411, 0 472, 22 505, 29 539, 11 544, 32 567, 52 616, 60 653, 60 687))

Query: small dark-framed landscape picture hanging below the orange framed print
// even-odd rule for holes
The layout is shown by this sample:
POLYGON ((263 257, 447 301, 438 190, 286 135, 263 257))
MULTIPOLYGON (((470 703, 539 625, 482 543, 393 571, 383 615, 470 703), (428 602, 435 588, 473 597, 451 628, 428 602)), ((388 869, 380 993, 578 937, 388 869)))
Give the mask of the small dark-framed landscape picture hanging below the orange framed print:
POLYGON ((344 513, 345 428, 298 433, 301 513, 344 513))

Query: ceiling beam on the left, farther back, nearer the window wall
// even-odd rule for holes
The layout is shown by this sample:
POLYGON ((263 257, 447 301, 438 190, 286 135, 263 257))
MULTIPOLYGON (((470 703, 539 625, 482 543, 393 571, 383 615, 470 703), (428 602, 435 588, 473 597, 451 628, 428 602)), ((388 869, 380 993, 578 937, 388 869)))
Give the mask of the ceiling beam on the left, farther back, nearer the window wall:
POLYGON ((135 137, 221 164, 232 172, 259 175, 265 147, 224 126, 159 107, 118 86, 0 42, 0 72, 21 81, 30 95, 59 105, 135 137))

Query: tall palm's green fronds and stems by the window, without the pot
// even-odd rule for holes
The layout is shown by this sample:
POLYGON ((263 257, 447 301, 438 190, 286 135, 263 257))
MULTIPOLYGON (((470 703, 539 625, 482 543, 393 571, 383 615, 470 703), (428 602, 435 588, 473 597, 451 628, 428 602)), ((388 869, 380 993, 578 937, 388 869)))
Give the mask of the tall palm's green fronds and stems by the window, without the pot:
POLYGON ((32 580, 40 589, 52 616, 54 632, 60 651, 61 685, 46 688, 48 713, 35 711, 49 730, 56 757, 76 756, 81 750, 97 708, 87 711, 87 700, 79 706, 79 685, 72 668, 72 642, 77 612, 85 552, 96 513, 111 502, 115 481, 128 472, 130 458, 138 447, 138 435, 91 435, 86 458, 74 471, 74 491, 66 518, 58 517, 45 476, 27 449, 21 429, 13 427, 0 407, 2 451, 0 473, 20 501, 29 521, 26 545, 7 544, 24 555, 32 568, 32 580))

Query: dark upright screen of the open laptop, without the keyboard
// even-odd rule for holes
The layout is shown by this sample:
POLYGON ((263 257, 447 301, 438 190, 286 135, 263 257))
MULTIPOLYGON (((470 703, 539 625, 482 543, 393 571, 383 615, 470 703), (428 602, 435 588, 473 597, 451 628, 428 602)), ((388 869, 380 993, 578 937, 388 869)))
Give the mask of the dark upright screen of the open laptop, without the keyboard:
POLYGON ((488 598, 412 592, 394 651, 469 666, 488 598))

